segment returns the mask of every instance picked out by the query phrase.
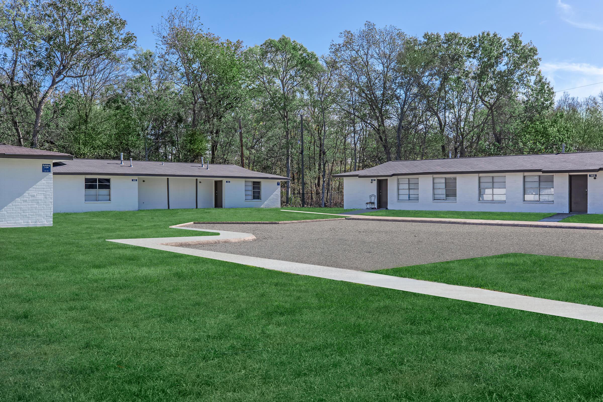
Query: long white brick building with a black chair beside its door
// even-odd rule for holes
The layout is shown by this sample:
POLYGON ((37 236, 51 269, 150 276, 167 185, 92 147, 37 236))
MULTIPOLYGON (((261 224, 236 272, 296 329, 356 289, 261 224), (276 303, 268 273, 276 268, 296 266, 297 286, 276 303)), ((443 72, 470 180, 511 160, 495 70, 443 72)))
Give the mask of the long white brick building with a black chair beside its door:
POLYGON ((387 162, 335 175, 344 207, 603 213, 603 152, 387 162), (599 176, 599 177, 598 177, 599 176))

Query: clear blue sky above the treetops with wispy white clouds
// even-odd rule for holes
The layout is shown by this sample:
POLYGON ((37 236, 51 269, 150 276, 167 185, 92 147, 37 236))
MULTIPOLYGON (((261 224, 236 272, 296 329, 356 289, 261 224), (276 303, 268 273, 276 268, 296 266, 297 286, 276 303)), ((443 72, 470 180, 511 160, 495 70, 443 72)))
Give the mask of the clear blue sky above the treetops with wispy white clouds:
MULTIPOLYGON (((603 1, 174 1, 106 0, 128 21, 138 44, 153 49, 151 27, 171 7, 198 7, 203 24, 221 37, 241 39, 247 46, 282 34, 318 55, 328 51, 343 30, 361 28, 366 20, 396 25, 408 34, 458 31, 465 35, 519 31, 537 46, 543 73, 555 90, 603 81, 603 1)), ((596 95, 603 84, 573 89, 573 96, 596 95)), ((558 94, 561 95, 561 94, 558 94)))

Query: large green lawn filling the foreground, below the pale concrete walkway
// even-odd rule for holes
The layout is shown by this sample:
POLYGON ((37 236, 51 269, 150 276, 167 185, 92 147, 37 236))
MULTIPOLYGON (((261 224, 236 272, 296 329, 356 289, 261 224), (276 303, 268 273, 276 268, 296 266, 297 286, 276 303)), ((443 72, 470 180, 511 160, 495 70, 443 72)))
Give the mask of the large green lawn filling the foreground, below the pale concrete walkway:
MULTIPOLYGON (((0 400, 602 400, 601 324, 104 240, 203 220, 219 219, 55 214, 0 229, 0 400)), ((564 286, 579 298, 576 277, 564 286)))

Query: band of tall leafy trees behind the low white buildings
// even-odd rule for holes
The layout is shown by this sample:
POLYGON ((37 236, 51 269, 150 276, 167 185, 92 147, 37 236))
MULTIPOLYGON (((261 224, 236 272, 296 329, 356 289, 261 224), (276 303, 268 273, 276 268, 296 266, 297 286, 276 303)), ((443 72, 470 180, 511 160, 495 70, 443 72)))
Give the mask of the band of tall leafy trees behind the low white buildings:
POLYGON ((155 51, 129 53, 125 26, 101 0, 2 3, 0 141, 236 163, 291 177, 282 199, 296 206, 302 188, 308 205, 341 205, 333 174, 388 160, 603 149, 603 97, 554 105, 519 33, 414 37, 366 22, 318 57, 284 35, 222 39, 193 5, 154 26, 155 51))

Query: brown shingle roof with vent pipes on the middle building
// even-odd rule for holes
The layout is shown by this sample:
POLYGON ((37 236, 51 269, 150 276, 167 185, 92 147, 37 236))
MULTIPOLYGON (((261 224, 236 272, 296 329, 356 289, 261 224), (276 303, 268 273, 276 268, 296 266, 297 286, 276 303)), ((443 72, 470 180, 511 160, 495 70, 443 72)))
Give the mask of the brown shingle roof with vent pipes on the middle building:
POLYGON ((256 178, 289 180, 286 177, 250 171, 237 165, 206 165, 201 163, 181 162, 148 162, 135 160, 130 168, 130 161, 105 159, 74 159, 69 162, 56 163, 55 175, 111 175, 111 176, 160 176, 160 177, 223 177, 223 178, 256 178))

